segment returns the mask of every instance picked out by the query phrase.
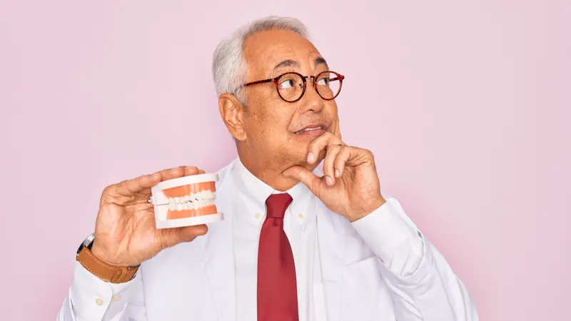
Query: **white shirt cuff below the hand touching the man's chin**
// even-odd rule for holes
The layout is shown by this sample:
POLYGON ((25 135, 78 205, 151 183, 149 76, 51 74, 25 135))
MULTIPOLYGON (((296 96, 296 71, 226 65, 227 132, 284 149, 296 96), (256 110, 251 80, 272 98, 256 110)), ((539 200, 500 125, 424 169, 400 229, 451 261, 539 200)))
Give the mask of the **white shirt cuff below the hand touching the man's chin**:
POLYGON ((423 238, 408 217, 399 213, 394 198, 351 223, 373 253, 395 273, 412 275, 423 259, 423 238))

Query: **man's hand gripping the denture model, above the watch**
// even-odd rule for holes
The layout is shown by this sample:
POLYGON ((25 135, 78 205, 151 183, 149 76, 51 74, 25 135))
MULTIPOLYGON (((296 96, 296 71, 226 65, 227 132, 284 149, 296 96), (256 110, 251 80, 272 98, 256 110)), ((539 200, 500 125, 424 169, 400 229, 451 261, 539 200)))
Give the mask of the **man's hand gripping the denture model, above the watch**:
POLYGON ((110 265, 136 266, 165 248, 206 234, 206 225, 157 229, 153 205, 147 202, 151 187, 162 180, 203 173, 181 166, 107 186, 101 195, 91 252, 110 265))

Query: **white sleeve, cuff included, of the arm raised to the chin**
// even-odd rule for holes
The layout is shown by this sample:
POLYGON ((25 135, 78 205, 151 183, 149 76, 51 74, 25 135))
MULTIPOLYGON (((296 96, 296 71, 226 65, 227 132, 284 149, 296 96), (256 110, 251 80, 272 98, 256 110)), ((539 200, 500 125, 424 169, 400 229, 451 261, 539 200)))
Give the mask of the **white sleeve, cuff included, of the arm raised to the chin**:
POLYGON ((398 320, 477 321, 475 303, 443 255, 408 218, 397 200, 353 227, 380 260, 398 320))

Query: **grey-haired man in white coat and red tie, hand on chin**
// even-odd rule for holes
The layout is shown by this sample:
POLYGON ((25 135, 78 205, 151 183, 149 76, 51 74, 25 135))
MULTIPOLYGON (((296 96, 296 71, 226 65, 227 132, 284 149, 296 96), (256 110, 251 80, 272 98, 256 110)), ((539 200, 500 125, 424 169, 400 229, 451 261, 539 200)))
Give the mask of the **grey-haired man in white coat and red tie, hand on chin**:
POLYGON ((373 154, 343 143, 343 73, 303 24, 236 31, 213 76, 238 150, 218 171, 225 219, 155 228, 151 186, 196 167, 108 186, 59 320, 477 320, 445 259, 381 195, 373 154))

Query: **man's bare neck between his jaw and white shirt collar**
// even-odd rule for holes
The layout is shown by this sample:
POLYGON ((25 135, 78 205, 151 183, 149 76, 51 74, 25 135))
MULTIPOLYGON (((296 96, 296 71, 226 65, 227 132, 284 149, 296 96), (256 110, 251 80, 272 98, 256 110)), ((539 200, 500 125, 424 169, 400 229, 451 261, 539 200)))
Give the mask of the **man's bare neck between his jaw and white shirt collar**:
POLYGON ((263 183, 281 192, 289 190, 299 183, 298 180, 285 177, 283 175, 284 170, 293 165, 301 165, 308 168, 308 170, 313 170, 317 167, 317 165, 309 165, 307 163, 278 163, 275 158, 261 158, 254 154, 255 153, 246 153, 245 151, 241 151, 241 148, 238 148, 238 157, 244 167, 256 176, 256 178, 263 181, 263 183))

